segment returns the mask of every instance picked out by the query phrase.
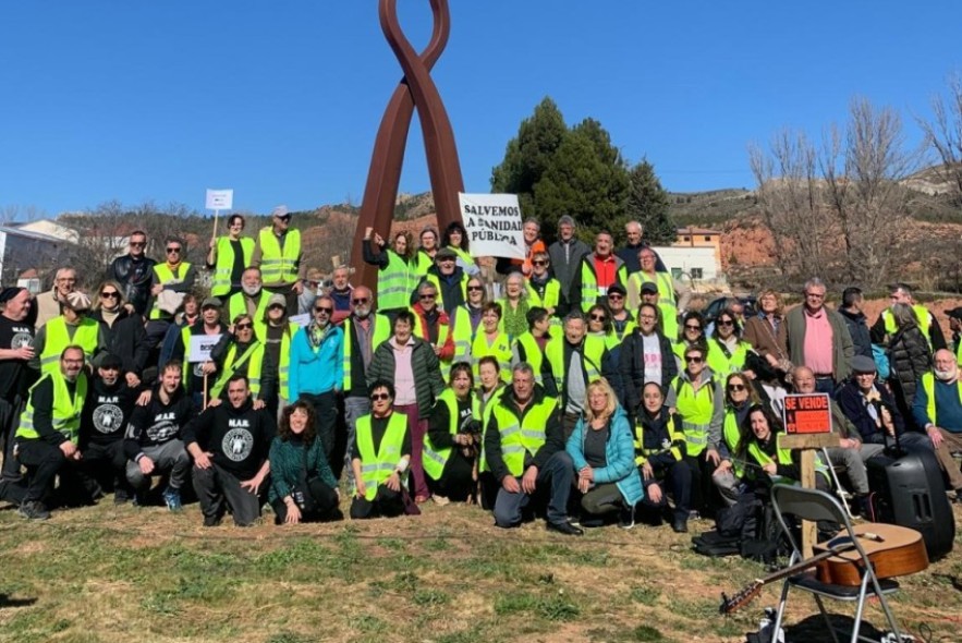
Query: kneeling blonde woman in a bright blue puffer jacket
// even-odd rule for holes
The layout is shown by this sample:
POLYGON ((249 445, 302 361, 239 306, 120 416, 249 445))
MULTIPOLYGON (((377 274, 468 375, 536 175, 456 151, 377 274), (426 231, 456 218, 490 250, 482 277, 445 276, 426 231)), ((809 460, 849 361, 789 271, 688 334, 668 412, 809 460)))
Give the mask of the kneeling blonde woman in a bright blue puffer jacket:
POLYGON ((577 472, 584 526, 598 526, 600 517, 622 510, 622 526, 634 524, 634 506, 642 499, 642 478, 634 463, 631 426, 608 381, 588 385, 588 408, 568 438, 567 451, 577 472))

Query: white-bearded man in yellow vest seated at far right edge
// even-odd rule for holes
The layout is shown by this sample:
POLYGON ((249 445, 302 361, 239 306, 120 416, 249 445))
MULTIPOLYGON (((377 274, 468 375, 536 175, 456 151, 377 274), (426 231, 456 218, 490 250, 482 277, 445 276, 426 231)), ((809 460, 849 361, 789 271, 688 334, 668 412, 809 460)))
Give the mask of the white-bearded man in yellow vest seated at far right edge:
POLYGON ((953 451, 962 451, 962 381, 950 350, 935 352, 931 373, 920 378, 912 415, 931 440, 939 466, 955 489, 955 502, 962 502, 962 472, 952 458, 953 451))

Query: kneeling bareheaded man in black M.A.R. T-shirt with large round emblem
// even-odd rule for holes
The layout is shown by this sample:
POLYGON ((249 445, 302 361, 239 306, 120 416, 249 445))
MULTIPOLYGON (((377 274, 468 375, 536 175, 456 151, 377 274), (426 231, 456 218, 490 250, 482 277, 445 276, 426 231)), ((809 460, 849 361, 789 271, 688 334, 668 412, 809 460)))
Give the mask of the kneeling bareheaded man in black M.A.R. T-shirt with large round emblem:
POLYGON ((253 524, 260 518, 261 485, 270 472, 273 415, 254 407, 244 375, 228 380, 227 395, 228 403, 215 398, 184 430, 204 526, 220 524, 228 509, 238 526, 253 524))

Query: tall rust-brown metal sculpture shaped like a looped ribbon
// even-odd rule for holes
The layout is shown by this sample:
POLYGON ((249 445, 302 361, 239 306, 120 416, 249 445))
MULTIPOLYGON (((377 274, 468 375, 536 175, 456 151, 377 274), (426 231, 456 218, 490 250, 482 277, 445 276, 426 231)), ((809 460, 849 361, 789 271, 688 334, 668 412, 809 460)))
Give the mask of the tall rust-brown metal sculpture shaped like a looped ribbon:
POLYGON ((394 89, 378 129, 351 253, 352 263, 360 268, 360 278, 355 278, 355 283, 364 283, 372 289, 377 282, 377 268, 361 260, 362 236, 364 230, 370 227, 388 238, 401 182, 404 147, 415 107, 424 134, 438 225, 443 230, 448 223, 461 218, 458 193, 464 191, 464 180, 454 145, 454 132, 438 88, 430 77, 430 70, 445 50, 451 34, 451 13, 448 0, 430 0, 430 5, 434 29, 427 47, 418 54, 401 29, 398 0, 380 0, 379 4, 381 31, 401 63, 404 77, 394 89))

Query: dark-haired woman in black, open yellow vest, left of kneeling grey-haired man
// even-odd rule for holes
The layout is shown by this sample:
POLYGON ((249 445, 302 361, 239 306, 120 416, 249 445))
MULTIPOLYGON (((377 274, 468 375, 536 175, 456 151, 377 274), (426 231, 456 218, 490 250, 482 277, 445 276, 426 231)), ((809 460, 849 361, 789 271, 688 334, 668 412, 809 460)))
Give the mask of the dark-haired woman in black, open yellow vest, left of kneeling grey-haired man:
POLYGON ((480 403, 471 365, 451 367, 450 385, 435 401, 424 441, 424 473, 438 505, 474 501, 482 442, 480 403))

